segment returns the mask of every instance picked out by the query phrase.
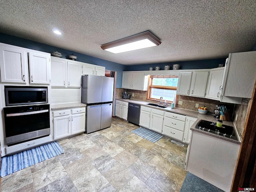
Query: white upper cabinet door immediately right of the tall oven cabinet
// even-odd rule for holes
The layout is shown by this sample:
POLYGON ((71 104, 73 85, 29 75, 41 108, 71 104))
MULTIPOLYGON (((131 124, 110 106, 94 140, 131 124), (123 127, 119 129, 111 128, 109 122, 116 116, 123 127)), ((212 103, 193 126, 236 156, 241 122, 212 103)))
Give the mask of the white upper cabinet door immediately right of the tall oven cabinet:
POLYGON ((51 61, 51 86, 66 87, 66 61, 52 58, 51 61))

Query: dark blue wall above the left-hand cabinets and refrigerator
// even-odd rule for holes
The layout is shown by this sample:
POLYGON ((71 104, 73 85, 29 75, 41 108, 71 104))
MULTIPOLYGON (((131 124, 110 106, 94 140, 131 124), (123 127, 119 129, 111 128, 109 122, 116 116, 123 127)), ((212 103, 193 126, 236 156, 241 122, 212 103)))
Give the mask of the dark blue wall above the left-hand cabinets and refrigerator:
POLYGON ((24 48, 28 48, 28 49, 38 50, 38 51, 42 51, 42 52, 47 52, 47 53, 58 51, 62 54, 62 58, 68 58, 68 55, 74 54, 75 56, 77 56, 77 58, 78 58, 77 60, 80 62, 104 66, 104 67, 106 67, 106 70, 116 71, 117 72, 116 88, 122 87, 122 72, 126 68, 125 65, 107 61, 107 60, 103 60, 103 59, 92 57, 92 56, 88 56, 85 54, 77 53, 74 51, 70 51, 70 50, 34 42, 31 40, 26 40, 26 39, 18 38, 15 36, 10 36, 10 35, 3 34, 3 33, 0 33, 0 42, 5 43, 5 44, 19 46, 19 47, 24 47, 24 48))

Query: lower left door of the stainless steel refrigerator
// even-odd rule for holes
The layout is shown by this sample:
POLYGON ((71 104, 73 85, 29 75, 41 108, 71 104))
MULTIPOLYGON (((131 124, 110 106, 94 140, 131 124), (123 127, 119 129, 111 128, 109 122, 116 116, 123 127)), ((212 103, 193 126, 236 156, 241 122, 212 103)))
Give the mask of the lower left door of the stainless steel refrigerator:
POLYGON ((100 130, 101 105, 86 107, 86 133, 100 130))

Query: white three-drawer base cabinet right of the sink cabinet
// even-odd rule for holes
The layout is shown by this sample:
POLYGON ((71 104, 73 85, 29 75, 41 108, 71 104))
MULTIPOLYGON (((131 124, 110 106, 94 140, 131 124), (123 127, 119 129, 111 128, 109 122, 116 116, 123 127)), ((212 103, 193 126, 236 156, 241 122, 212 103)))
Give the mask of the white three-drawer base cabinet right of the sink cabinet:
POLYGON ((172 112, 164 112, 162 134, 182 141, 184 135, 186 116, 172 112))

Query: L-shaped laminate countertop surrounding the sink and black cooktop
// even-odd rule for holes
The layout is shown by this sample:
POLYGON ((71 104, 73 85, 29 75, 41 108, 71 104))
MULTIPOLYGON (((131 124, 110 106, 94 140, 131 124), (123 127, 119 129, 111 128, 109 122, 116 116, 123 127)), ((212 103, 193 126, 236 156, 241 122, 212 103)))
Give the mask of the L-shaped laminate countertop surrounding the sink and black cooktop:
POLYGON ((232 140, 230 138, 222 137, 222 136, 219 136, 219 135, 215 135, 215 134, 212 134, 212 133, 204 132, 202 130, 195 129, 196 124, 198 122, 200 122, 201 120, 206 120, 206 121, 210 121, 210 122, 217 122, 217 119, 214 118, 213 114, 200 114, 197 111, 192 111, 192 110, 187 110, 187 109, 182 109, 182 108, 173 108, 172 109, 170 106, 166 107, 166 108, 160 108, 160 107, 156 107, 156 106, 147 105, 150 102, 145 102, 145 101, 135 100, 135 99, 116 98, 116 100, 120 100, 120 101, 124 101, 124 102, 130 102, 130 103, 134 103, 134 104, 140 104, 142 106, 155 108, 155 109, 158 109, 158 110, 168 111, 168 112, 172 112, 172 113, 177 113, 177 114, 197 118, 196 122, 194 122, 194 124, 190 127, 190 130, 195 131, 195 132, 200 132, 202 134, 210 135, 210 136, 213 136, 213 137, 216 137, 216 138, 220 138, 222 140, 226 140, 226 141, 233 142, 233 143, 236 143, 236 144, 241 144, 241 138, 240 138, 240 136, 239 136, 239 134, 236 130, 236 126, 234 125, 234 122, 223 121, 223 125, 228 125, 228 126, 232 126, 232 127, 235 128, 236 136, 238 138, 238 141, 232 140))

